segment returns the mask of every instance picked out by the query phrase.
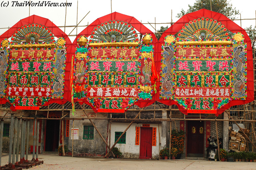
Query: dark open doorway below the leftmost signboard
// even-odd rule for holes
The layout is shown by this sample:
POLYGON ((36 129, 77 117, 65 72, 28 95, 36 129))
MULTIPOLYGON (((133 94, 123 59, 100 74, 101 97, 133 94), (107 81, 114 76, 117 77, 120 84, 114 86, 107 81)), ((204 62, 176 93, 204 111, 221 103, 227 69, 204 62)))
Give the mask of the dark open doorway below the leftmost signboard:
POLYGON ((45 151, 58 152, 59 136, 60 136, 60 121, 47 120, 45 130, 45 151))

